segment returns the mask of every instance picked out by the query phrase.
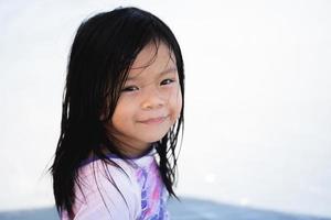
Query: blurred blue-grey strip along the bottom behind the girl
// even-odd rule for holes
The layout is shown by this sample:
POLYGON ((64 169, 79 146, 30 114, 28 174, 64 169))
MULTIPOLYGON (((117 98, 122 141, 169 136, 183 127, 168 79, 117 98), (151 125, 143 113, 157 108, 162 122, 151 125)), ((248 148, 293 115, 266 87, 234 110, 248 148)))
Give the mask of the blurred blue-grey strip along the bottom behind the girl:
MULTIPOLYGON (((172 220, 331 220, 331 218, 285 213, 247 207, 218 204, 209 200, 181 198, 170 200, 172 220)), ((58 220, 54 207, 0 212, 1 220, 58 220)))

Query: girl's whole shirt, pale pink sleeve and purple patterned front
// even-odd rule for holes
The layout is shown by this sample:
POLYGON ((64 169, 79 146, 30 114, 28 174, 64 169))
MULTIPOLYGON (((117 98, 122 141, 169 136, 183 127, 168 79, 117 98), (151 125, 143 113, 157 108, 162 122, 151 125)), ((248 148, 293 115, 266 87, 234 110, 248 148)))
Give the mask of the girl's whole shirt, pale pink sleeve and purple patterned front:
MULTIPOLYGON (((168 193, 154 154, 152 148, 129 163, 109 155, 120 168, 100 160, 85 162, 78 170, 81 185, 75 187, 74 219, 168 220, 168 193)), ((61 217, 68 219, 66 211, 61 217)))

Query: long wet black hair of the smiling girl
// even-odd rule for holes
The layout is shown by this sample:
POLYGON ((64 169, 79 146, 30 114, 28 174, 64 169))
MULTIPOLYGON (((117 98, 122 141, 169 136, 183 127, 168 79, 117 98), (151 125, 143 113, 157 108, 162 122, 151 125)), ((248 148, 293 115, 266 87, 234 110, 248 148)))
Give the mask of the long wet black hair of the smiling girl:
POLYGON ((180 117, 168 133, 153 143, 159 169, 170 196, 177 180, 175 146, 184 121, 184 69, 179 43, 156 15, 137 8, 118 8, 84 21, 75 35, 63 92, 61 134, 50 170, 58 212, 73 216, 78 168, 90 154, 111 162, 102 146, 120 158, 118 145, 109 136, 111 122, 128 72, 139 52, 148 44, 164 43, 174 55, 182 94, 180 117), (106 117, 100 116, 106 112, 106 117))

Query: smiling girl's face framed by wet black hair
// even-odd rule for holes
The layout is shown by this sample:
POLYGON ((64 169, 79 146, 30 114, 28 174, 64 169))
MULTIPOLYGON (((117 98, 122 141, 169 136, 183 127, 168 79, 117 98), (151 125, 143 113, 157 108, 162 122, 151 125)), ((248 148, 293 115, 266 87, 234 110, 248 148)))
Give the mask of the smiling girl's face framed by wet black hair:
POLYGON ((161 140, 182 109, 174 55, 160 43, 137 56, 113 114, 111 132, 124 154, 139 156, 161 140))

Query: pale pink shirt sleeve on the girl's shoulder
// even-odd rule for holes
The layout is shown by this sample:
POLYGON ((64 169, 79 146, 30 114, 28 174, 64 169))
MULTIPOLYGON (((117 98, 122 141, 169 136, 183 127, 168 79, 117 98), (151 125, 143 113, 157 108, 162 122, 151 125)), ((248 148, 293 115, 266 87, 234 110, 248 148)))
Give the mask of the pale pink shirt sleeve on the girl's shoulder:
POLYGON ((75 220, 138 219, 140 190, 132 169, 125 163, 120 165, 122 169, 99 161, 84 167, 76 187, 75 220))

